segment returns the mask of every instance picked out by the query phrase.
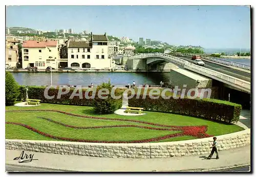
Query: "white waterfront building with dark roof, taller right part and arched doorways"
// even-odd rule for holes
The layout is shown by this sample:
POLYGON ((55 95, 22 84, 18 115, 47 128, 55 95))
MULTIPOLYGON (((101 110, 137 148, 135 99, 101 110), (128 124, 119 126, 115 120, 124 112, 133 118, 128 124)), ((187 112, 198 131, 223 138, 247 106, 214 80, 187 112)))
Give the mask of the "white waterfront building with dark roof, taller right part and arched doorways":
POLYGON ((109 40, 104 35, 93 35, 91 33, 88 41, 68 42, 68 66, 80 68, 110 68, 109 40))

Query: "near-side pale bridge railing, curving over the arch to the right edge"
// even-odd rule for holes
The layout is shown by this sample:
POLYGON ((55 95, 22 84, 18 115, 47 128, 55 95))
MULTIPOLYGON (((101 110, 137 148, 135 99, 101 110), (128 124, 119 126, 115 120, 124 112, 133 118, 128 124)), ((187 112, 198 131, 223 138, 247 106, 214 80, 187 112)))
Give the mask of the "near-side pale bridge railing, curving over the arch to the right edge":
POLYGON ((229 83, 232 83, 234 85, 238 85, 238 86, 246 88, 248 90, 250 90, 250 87, 251 87, 251 83, 250 82, 247 82, 247 81, 244 81, 244 80, 232 77, 232 76, 227 75, 227 74, 223 74, 221 72, 218 72, 218 71, 215 71, 215 70, 212 70, 212 69, 208 69, 208 68, 196 65, 194 63, 190 63, 190 62, 188 62, 186 60, 183 60, 183 59, 180 59, 180 58, 177 58, 177 57, 174 57, 174 56, 170 56, 168 54, 151 53, 151 54, 142 54, 142 55, 139 55, 139 56, 133 56, 131 58, 137 58, 137 59, 141 58, 142 59, 142 58, 147 58, 147 57, 163 57, 163 58, 165 58, 167 60, 169 59, 169 60, 172 60, 172 61, 176 61, 176 62, 182 64, 185 68, 187 67, 188 69, 189 68, 196 69, 198 71, 201 71, 203 73, 212 75, 212 76, 214 76, 216 78, 225 80, 225 81, 227 81, 229 83))

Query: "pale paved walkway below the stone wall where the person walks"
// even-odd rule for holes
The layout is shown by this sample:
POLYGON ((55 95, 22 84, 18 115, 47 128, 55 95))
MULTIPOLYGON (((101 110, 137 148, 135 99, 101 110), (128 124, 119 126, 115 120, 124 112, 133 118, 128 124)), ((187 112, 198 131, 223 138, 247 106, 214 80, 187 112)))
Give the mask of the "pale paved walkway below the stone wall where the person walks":
MULTIPOLYGON (((160 159, 97 158, 76 155, 34 153, 36 161, 18 163, 13 160, 21 151, 6 149, 6 165, 40 167, 67 171, 193 171, 250 164, 250 145, 219 152, 220 159, 204 159, 208 154, 160 159)), ((29 151, 25 152, 30 154, 29 151)))

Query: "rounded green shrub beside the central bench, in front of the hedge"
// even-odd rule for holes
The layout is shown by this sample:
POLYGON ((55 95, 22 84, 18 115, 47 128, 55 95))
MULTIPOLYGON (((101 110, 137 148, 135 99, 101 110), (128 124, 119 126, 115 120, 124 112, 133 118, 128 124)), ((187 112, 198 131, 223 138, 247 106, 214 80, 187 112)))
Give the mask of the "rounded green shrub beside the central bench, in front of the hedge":
MULTIPOLYGON (((109 93, 111 93, 113 86, 109 83, 102 83, 98 86, 97 90, 100 89, 108 89, 109 93)), ((121 91, 116 92, 116 96, 120 96, 122 93, 121 91)), ((107 96, 102 94, 102 96, 107 96)), ((114 113, 117 109, 120 109, 122 106, 122 99, 114 99, 109 94, 108 98, 101 99, 99 97, 95 98, 94 100, 94 110, 98 114, 110 114, 114 113)))

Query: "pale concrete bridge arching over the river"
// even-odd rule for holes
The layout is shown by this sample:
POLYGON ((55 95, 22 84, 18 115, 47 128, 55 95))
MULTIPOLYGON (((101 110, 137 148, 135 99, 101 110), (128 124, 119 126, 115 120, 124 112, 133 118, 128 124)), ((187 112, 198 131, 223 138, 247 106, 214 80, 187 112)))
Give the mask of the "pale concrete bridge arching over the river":
POLYGON ((204 66, 198 66, 196 64, 189 62, 189 60, 170 56, 167 54, 162 54, 162 53, 141 54, 136 56, 130 56, 128 59, 129 60, 143 59, 145 60, 145 62, 143 62, 144 65, 148 65, 156 62, 166 62, 166 63, 170 62, 186 70, 190 70, 200 75, 204 75, 205 77, 222 82, 229 88, 250 93, 250 87, 251 87, 250 73, 248 73, 249 75, 246 75, 245 77, 241 74, 234 74, 232 72, 226 72, 222 70, 217 71, 214 67, 206 68, 204 66), (226 73, 223 73, 223 72, 226 72, 226 73))

